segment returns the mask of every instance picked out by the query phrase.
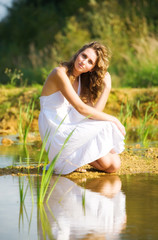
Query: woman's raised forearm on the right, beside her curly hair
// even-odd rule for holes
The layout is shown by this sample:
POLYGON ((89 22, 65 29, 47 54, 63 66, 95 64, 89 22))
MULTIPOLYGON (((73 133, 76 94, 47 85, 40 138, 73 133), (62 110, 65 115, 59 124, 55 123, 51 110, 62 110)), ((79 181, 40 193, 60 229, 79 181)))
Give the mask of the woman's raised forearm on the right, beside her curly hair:
POLYGON ((108 72, 105 74, 105 77, 104 77, 103 81, 104 81, 103 92, 101 93, 101 95, 99 96, 99 99, 97 100, 97 102, 93 106, 94 108, 96 108, 97 110, 99 110, 101 112, 105 108, 105 104, 108 100, 108 96, 109 96, 109 93, 110 93, 110 90, 111 90, 111 76, 108 72))

